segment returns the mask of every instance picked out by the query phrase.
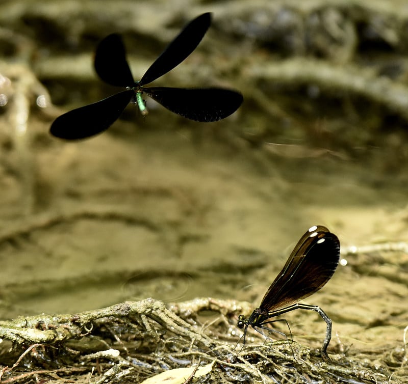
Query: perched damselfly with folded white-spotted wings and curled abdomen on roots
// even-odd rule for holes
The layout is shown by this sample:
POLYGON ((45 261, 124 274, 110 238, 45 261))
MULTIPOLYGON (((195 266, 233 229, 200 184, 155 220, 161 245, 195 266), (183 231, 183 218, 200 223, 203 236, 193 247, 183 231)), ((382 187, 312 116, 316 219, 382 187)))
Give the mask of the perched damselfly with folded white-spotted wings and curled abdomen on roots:
MULTIPOLYGON (((244 328, 244 340, 251 325, 271 331, 266 324, 276 320, 272 317, 295 309, 316 311, 326 322, 326 337, 321 349, 322 357, 328 359, 327 346, 331 339, 331 319, 318 306, 299 304, 298 301, 309 297, 322 288, 333 276, 340 259, 340 241, 326 227, 313 226, 300 238, 290 254, 282 271, 279 272, 266 291, 261 305, 249 318, 238 317, 237 326, 244 328)), ((258 331, 262 333, 261 331, 258 331)))

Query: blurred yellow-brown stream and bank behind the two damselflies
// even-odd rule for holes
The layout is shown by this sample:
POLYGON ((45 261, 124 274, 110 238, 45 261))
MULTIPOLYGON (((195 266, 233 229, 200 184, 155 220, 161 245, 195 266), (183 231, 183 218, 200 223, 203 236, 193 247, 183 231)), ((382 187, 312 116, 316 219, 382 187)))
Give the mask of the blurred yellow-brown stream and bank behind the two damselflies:
MULTIPOLYGON (((403 355, 407 41, 398 0, 2 0, 1 317, 146 297, 257 306, 320 224, 346 264, 307 300, 333 319, 330 346, 403 355), (98 41, 120 33, 138 79, 203 12, 206 36, 154 85, 239 90, 234 115, 197 123, 148 99, 94 138, 48 133, 119 91, 93 70, 98 41)), ((285 317, 320 346, 317 314, 285 317)))

